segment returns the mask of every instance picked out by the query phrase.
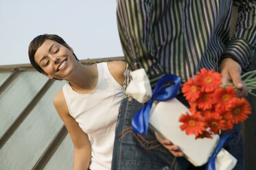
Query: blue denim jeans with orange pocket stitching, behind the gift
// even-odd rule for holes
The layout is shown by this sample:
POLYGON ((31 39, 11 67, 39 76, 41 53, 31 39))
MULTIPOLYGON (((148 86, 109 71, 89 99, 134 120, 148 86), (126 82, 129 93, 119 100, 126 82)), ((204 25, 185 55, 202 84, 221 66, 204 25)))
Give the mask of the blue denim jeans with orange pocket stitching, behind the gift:
MULTIPOLYGON (((132 117, 142 106, 142 104, 139 104, 139 102, 131 97, 121 101, 115 132, 115 145, 111 169, 204 169, 204 167, 191 166, 184 157, 173 156, 170 151, 165 149, 165 147, 156 140, 154 131, 151 130, 150 127, 146 135, 132 132, 132 117)), ((234 154, 239 156, 239 154, 241 154, 240 151, 238 152, 238 150, 232 149, 232 141, 229 142, 228 149, 233 151, 230 152, 233 156, 234 154)), ((236 144, 237 143, 234 145, 236 144)), ((243 157, 243 155, 241 157, 243 157)))

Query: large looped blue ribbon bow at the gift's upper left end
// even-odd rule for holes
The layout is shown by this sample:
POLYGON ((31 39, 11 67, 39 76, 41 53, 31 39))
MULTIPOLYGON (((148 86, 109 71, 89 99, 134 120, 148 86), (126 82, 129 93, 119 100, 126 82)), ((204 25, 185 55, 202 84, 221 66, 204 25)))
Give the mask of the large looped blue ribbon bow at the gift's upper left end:
POLYGON ((176 97, 180 85, 181 77, 177 75, 167 74, 161 77, 154 88, 151 99, 132 118, 132 131, 139 134, 147 134, 153 101, 166 101, 176 97), (167 81, 172 81, 174 85, 164 88, 167 81))

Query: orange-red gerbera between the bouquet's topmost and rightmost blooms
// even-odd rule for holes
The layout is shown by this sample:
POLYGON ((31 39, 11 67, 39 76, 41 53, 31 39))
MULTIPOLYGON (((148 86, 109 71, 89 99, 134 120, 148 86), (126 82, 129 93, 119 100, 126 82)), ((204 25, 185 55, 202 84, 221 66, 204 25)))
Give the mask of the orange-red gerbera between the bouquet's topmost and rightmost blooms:
POLYGON ((213 93, 213 99, 217 108, 224 109, 233 97, 236 97, 233 86, 228 86, 227 88, 217 88, 213 93))

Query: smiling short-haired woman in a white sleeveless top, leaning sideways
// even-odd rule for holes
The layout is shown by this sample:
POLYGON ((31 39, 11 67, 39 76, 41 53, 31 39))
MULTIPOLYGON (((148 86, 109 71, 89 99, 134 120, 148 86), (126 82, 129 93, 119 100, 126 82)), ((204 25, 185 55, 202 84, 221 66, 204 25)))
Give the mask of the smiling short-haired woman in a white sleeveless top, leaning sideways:
POLYGON ((54 34, 34 38, 29 57, 43 75, 67 81, 54 96, 54 106, 75 147, 73 169, 110 169, 125 62, 84 66, 54 34))

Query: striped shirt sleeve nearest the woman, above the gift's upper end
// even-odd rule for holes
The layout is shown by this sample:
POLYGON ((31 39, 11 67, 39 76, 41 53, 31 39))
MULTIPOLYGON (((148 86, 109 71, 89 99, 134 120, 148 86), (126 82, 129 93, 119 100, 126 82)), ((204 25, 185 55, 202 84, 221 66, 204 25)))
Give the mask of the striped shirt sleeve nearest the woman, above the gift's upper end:
POLYGON ((153 8, 151 1, 117 0, 117 26, 128 69, 145 69, 150 82, 164 74, 154 55, 153 8))

